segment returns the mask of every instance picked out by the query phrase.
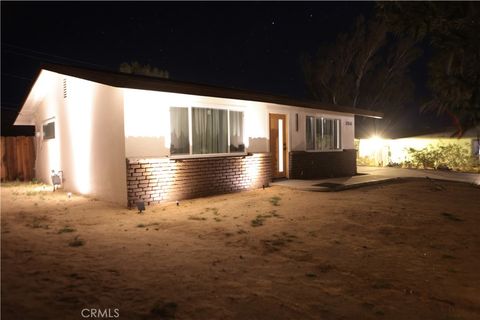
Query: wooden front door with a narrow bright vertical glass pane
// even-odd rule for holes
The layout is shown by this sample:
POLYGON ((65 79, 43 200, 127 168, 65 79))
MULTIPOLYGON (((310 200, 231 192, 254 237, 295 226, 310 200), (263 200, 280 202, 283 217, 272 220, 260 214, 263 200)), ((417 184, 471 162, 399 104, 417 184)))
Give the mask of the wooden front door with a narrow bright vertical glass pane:
POLYGON ((274 178, 286 177, 287 171, 287 117, 270 114, 270 155, 274 178))

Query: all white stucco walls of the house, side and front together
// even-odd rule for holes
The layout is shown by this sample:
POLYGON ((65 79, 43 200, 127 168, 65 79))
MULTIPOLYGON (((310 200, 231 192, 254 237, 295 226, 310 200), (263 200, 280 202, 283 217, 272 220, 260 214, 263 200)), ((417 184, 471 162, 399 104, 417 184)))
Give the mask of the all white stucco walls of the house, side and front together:
POLYGON ((119 204, 127 203, 125 158, 170 155, 170 107, 243 111, 247 152, 269 152, 270 113, 286 115, 287 152, 305 151, 307 115, 340 119, 342 148, 354 149, 354 116, 350 114, 114 88, 50 71, 42 71, 24 108, 33 106, 38 106, 36 130, 40 133, 42 125, 53 119, 56 131, 55 139, 36 138, 37 178, 51 183, 51 170, 62 170, 66 190, 119 204))

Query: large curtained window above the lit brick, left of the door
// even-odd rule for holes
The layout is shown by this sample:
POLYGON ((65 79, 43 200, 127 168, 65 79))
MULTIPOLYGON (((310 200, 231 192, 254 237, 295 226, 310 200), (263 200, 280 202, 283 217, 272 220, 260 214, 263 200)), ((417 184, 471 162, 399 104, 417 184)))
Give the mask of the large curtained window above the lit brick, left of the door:
POLYGON ((243 112, 197 107, 190 110, 189 116, 189 108, 170 108, 172 155, 190 154, 190 150, 193 155, 245 152, 243 112))

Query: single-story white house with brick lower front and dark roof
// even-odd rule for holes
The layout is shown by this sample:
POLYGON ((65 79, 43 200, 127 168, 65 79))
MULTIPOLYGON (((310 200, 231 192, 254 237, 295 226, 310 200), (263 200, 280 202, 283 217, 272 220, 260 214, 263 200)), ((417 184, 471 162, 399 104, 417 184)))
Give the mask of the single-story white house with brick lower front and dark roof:
POLYGON ((36 132, 36 177, 121 204, 356 173, 354 115, 242 90, 48 65, 15 125, 36 132))

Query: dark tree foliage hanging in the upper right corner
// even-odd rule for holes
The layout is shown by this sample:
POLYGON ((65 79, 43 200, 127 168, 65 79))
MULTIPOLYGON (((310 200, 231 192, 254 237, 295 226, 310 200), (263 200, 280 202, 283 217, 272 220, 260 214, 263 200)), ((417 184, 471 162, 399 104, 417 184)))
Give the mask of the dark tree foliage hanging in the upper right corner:
POLYGON ((379 16, 397 34, 425 41, 432 97, 423 111, 448 114, 457 136, 480 123, 480 5, 475 2, 388 2, 379 16))

